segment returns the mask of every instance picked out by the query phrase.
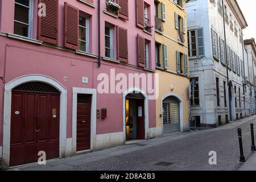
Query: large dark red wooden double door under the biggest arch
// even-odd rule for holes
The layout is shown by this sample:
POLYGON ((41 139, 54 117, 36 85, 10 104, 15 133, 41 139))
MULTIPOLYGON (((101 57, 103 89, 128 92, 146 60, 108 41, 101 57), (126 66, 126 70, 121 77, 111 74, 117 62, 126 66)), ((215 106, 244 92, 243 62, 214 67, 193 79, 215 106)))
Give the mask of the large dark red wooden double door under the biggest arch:
POLYGON ((60 94, 12 92, 10 166, 59 157, 60 94))

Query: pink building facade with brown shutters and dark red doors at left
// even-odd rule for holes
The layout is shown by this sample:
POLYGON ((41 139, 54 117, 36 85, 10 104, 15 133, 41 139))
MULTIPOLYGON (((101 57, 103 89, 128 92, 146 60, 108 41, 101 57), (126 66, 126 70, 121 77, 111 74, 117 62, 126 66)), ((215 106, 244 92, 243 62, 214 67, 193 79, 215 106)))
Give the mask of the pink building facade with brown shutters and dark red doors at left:
POLYGON ((148 91, 154 1, 119 0, 117 14, 99 2, 0 0, 4 168, 36 162, 39 151, 64 158, 162 135, 148 91))

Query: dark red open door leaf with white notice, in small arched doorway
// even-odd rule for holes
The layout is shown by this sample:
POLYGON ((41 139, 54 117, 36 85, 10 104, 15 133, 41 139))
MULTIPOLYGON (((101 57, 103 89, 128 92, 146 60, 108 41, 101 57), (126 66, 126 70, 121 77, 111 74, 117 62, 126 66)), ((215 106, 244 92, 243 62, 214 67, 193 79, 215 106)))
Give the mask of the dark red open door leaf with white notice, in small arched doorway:
POLYGON ((137 103, 137 139, 145 139, 145 122, 144 122, 144 100, 136 100, 137 103), (141 110, 141 113, 139 113, 141 110))

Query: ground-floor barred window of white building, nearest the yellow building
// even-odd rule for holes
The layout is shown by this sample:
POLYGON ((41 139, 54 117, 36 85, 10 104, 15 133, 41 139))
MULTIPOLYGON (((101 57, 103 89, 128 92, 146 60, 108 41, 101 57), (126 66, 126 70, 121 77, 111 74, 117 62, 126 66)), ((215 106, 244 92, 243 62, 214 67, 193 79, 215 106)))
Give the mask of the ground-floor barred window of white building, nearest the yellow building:
POLYGON ((200 100, 199 100, 199 78, 190 78, 190 84, 191 84, 191 99, 190 99, 190 105, 200 106, 200 100))

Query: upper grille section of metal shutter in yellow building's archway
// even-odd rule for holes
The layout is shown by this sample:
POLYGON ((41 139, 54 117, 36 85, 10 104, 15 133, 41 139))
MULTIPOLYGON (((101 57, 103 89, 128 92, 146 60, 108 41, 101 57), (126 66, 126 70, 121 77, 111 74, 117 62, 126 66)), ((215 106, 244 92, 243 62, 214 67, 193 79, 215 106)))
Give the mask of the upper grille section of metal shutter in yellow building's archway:
POLYGON ((174 125, 180 123, 179 102, 163 103, 163 124, 174 125))

